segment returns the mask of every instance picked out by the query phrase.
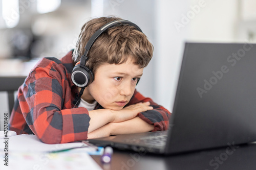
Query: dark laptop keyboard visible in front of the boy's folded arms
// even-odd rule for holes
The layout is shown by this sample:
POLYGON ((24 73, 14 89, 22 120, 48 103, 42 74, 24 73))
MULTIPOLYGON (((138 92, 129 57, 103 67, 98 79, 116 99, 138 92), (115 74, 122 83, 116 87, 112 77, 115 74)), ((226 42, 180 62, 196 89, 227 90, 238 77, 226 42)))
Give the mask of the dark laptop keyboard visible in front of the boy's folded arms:
POLYGON ((156 147, 164 146, 166 143, 167 136, 148 136, 140 139, 125 139, 124 142, 134 143, 134 144, 143 144, 151 145, 156 147))

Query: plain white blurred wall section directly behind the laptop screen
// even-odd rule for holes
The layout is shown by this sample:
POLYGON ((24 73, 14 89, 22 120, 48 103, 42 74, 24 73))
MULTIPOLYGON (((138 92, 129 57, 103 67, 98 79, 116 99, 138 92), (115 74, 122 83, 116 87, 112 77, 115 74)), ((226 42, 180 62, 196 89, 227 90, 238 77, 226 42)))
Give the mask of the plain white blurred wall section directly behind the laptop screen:
POLYGON ((239 23, 239 1, 160 0, 156 3, 155 99, 173 110, 184 42, 234 42, 239 23))

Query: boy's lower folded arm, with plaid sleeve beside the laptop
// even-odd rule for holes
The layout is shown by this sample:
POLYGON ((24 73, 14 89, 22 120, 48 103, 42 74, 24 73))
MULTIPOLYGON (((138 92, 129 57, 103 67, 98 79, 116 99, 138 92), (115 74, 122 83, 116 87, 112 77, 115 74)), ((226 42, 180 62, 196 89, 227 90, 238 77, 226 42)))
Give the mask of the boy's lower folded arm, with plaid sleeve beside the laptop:
MULTIPOLYGON (((167 130, 171 113, 162 106, 154 103, 150 98, 145 98, 136 90, 129 105, 125 108, 129 109, 130 107, 143 102, 152 108, 138 111, 137 116, 132 119, 123 120, 122 122, 110 122, 102 127, 98 127, 98 129, 95 128, 93 131, 89 132, 88 138, 167 130)), ((123 108, 123 110, 125 108, 123 108)))

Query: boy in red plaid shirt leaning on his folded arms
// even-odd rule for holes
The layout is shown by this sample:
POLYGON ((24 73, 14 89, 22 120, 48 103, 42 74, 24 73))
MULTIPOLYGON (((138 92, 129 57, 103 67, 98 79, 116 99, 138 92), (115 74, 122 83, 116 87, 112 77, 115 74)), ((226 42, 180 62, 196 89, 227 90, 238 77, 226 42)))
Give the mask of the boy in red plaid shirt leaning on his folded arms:
POLYGON ((116 20, 121 18, 88 21, 74 52, 60 60, 43 58, 35 65, 18 89, 10 130, 35 134, 45 143, 167 130, 170 113, 135 89, 153 45, 131 24, 116 25, 98 36, 84 64, 90 69, 90 83, 85 88, 74 85, 72 69, 81 64, 89 39, 116 20))

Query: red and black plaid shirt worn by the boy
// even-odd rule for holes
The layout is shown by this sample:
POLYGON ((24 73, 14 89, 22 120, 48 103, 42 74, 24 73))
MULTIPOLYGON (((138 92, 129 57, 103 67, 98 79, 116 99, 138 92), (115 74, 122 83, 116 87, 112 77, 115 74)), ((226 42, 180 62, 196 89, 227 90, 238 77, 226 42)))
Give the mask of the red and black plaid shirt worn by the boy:
MULTIPOLYGON (((73 108, 78 100, 78 90, 71 81, 74 67, 72 52, 60 60, 43 58, 31 70, 24 84, 18 88, 10 117, 10 130, 17 134, 35 134, 46 143, 87 139, 90 121, 88 110, 73 108)), ((167 130, 170 112, 150 98, 135 90, 127 106, 146 101, 150 101, 154 109, 138 116, 154 125, 153 131, 167 130)), ((99 104, 95 107, 101 108, 99 104)))

